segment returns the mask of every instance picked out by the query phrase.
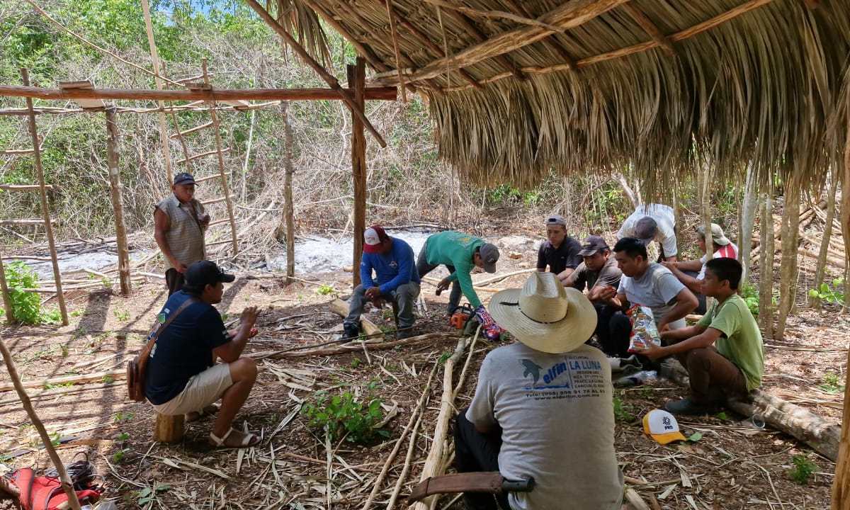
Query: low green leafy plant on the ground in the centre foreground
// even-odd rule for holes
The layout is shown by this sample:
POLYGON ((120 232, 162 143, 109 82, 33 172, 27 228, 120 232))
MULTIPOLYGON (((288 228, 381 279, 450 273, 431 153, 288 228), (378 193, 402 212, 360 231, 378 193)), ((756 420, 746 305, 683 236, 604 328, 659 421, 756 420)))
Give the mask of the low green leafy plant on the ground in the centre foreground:
POLYGON ((348 442, 367 444, 379 436, 389 437, 389 431, 375 428, 383 419, 381 399, 367 402, 350 392, 331 396, 319 391, 304 404, 301 414, 309 428, 326 430, 333 441, 344 436, 348 442))

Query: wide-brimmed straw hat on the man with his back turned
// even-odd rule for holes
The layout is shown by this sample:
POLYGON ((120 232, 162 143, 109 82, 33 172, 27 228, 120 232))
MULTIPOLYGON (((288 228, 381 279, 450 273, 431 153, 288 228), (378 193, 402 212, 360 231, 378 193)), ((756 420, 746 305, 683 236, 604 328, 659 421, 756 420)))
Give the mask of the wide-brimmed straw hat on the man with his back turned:
POLYGON ((579 348, 596 329, 596 310, 581 291, 553 273, 533 273, 521 289, 497 292, 490 315, 530 348, 550 354, 579 348))

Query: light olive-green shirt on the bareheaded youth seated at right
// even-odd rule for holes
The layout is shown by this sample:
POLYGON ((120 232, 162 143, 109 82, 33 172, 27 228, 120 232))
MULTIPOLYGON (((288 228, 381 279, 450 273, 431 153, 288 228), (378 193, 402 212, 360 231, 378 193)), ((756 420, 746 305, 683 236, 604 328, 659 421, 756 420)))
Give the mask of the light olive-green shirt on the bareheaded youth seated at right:
POLYGON ((717 351, 744 372, 747 390, 762 385, 762 331, 759 331, 756 319, 742 297, 733 294, 719 305, 714 303, 697 326, 713 327, 722 333, 717 338, 717 351))

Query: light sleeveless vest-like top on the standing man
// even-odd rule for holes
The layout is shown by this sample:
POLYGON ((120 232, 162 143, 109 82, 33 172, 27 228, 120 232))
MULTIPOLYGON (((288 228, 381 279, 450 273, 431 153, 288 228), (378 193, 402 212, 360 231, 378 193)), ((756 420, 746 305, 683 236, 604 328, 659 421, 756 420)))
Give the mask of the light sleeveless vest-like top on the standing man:
MULTIPOLYGON (((198 214, 204 213, 201 202, 192 199, 184 204, 172 194, 156 204, 156 208, 168 217, 165 239, 174 258, 187 266, 206 258, 204 231, 197 219, 198 214)), ((174 267, 167 259, 165 264, 166 270, 174 267)))

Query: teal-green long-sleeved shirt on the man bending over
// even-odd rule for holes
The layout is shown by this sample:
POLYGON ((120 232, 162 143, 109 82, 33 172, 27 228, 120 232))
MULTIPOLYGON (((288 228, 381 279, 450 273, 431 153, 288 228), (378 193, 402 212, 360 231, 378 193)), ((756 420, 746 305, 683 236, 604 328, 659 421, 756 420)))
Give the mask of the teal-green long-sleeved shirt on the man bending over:
POLYGON ((480 237, 454 230, 434 234, 425 243, 425 259, 429 264, 454 266, 455 272, 449 276, 449 280, 457 280, 461 284, 463 295, 473 308, 481 306, 481 300, 473 289, 473 279, 469 273, 473 270, 475 249, 483 244, 484 240, 480 237))

